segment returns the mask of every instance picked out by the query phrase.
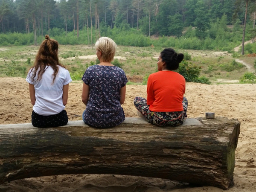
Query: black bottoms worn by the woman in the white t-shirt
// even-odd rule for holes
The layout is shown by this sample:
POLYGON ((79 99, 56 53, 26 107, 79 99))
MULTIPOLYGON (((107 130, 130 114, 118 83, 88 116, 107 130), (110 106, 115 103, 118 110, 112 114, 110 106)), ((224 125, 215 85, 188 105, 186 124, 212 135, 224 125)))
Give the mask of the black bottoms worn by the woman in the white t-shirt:
POLYGON ((67 111, 65 110, 56 115, 38 115, 32 111, 31 117, 32 125, 39 128, 63 126, 67 125, 68 122, 67 111))

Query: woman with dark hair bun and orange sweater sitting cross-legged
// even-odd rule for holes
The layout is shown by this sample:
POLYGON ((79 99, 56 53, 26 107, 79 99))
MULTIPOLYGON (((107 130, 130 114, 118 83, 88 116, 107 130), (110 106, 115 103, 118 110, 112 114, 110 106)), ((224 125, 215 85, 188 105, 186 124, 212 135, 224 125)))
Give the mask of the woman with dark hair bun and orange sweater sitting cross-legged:
POLYGON ((134 105, 138 115, 149 123, 160 126, 181 125, 186 120, 188 101, 183 96, 186 82, 177 70, 183 60, 182 53, 164 49, 157 61, 157 73, 148 77, 147 99, 136 97, 134 105))

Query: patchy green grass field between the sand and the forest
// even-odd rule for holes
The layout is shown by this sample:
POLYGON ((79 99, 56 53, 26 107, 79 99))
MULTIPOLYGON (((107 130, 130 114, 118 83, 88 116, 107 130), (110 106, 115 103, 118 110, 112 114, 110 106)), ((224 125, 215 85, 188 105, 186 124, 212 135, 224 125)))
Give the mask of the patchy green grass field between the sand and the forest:
MULTIPOLYGON (((0 76, 26 77, 27 70, 35 61, 38 48, 39 46, 1 47, 0 76)), ((135 84, 145 84, 145 77, 157 72, 157 57, 161 51, 162 48, 159 47, 118 46, 116 56, 122 58, 115 62, 122 64, 127 76, 138 76, 141 79, 141 82, 135 84)), ((234 63, 232 54, 216 54, 213 51, 200 50, 178 50, 178 52, 191 55, 188 62, 201 67, 200 76, 209 78, 212 84, 217 84, 217 79, 239 80, 247 72, 246 67, 234 63)), ((58 54, 73 80, 80 81, 87 67, 96 63, 96 58, 79 58, 79 56, 96 55, 94 47, 60 45, 58 54)), ((256 58, 240 57, 239 59, 253 65, 256 58)), ((129 84, 133 83, 129 82, 129 84)))

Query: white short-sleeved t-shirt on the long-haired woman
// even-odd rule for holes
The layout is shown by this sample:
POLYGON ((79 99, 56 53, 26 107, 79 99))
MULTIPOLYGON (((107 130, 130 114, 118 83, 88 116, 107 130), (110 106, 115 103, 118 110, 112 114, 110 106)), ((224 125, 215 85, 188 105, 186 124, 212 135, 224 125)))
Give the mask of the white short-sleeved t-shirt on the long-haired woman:
POLYGON ((52 83, 54 73, 52 67, 48 66, 42 75, 40 81, 32 79, 32 69, 29 71, 26 81, 35 86, 35 105, 33 110, 39 115, 55 115, 64 110, 65 106, 62 102, 63 86, 69 84, 72 79, 70 73, 65 68, 58 66, 58 74, 52 83))

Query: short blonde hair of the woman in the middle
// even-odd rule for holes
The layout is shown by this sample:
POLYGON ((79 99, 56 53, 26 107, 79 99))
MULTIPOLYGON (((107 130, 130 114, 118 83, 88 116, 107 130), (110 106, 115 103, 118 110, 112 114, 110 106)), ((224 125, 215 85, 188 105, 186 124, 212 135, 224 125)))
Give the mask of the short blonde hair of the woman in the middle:
POLYGON ((116 43, 108 37, 99 38, 95 48, 102 52, 102 61, 111 62, 116 54, 116 43))

